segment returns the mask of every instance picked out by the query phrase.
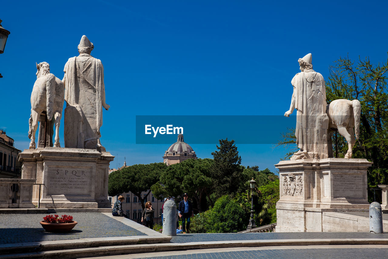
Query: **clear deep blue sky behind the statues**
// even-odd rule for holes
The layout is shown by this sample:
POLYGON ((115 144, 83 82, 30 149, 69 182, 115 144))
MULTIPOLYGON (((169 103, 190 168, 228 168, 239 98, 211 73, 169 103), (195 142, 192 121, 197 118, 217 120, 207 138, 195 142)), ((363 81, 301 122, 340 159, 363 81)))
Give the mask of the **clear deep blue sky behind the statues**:
MULTIPOLYGON (((101 142, 111 168, 162 162, 168 145, 135 144, 136 115, 283 115, 298 58, 327 78, 340 56, 386 61, 386 1, 4 1, 0 128, 28 148, 35 62, 62 79, 82 35, 105 72, 101 142), (340 3, 338 3, 340 2, 340 3)), ((290 117, 289 120, 294 120, 290 117)), ((241 127, 249 127, 247 121, 241 127)), ((255 124, 256 126, 256 124, 255 124)), ((272 125, 262 125, 268 132, 272 125)), ((206 125, 204 125, 206 128, 206 125)), ((185 129, 186 130, 186 129, 185 129)), ((286 128, 284 128, 286 130, 286 128)), ((63 146, 63 119, 61 128, 63 146)), ((190 132, 187 134, 206 134, 190 132)), ((198 137, 198 136, 197 136, 198 137)), ((221 136, 219 138, 233 136, 221 136)), ((175 141, 175 137, 174 137, 175 141)), ((190 143, 190 138, 185 141, 190 143)), ((172 143, 171 143, 172 144, 172 143)), ((191 144, 212 158, 216 144, 191 144)), ((236 143, 242 165, 275 170, 286 151, 236 143)))

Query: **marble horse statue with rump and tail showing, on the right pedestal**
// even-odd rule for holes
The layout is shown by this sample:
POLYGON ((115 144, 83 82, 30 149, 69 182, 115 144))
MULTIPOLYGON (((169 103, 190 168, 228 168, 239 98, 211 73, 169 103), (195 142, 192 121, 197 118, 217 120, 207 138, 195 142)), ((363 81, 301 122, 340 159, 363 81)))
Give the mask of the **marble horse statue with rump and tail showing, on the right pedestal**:
POLYGON ((356 143, 356 139, 359 139, 360 136, 360 101, 334 100, 326 106, 326 114, 329 116, 329 129, 327 130, 329 158, 333 158, 331 137, 335 129, 338 129, 338 132, 348 142, 348 152, 346 152, 345 158, 352 158, 353 146, 356 143))

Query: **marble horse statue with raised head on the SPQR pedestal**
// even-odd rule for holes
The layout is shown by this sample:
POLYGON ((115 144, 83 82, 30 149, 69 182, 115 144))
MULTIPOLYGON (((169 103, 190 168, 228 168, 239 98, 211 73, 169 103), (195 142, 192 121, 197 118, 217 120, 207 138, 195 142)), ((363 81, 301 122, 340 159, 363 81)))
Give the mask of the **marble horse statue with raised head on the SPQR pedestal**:
MULTIPOLYGON (((55 125, 54 147, 59 144, 59 124, 62 117, 65 87, 61 79, 50 73, 50 65, 47 62, 36 64, 36 81, 31 93, 31 116, 29 119, 28 138, 31 139, 30 149, 35 149, 35 133, 38 129, 38 119, 42 112, 46 112, 49 125, 55 125)), ((50 137, 52 138, 52 133, 50 137)))

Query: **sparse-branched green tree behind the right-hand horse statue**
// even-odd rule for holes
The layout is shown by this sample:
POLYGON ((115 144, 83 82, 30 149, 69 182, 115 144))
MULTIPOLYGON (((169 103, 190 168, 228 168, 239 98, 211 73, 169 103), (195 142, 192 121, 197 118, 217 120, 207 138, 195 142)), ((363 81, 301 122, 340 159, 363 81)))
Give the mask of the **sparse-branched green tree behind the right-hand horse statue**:
MULTIPOLYGON (((326 100, 357 99, 361 103, 360 138, 353 147, 353 158, 373 162, 368 170, 369 187, 388 183, 388 61, 372 64, 369 57, 334 61, 326 82, 326 100)), ((339 136, 340 157, 347 150, 339 136)))

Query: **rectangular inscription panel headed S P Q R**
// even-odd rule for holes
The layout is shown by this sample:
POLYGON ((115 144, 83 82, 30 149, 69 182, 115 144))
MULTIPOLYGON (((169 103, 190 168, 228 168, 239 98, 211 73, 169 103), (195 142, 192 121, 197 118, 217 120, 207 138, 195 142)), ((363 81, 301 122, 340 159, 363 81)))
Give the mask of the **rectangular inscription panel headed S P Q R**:
POLYGON ((92 168, 54 167, 49 168, 47 195, 90 194, 92 168))

